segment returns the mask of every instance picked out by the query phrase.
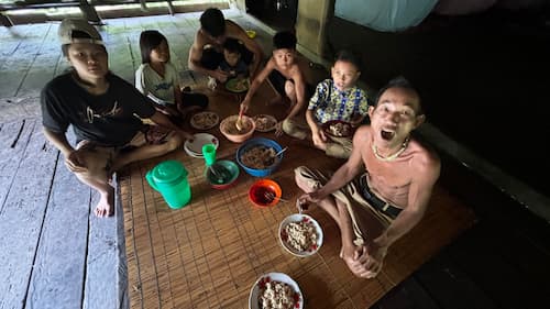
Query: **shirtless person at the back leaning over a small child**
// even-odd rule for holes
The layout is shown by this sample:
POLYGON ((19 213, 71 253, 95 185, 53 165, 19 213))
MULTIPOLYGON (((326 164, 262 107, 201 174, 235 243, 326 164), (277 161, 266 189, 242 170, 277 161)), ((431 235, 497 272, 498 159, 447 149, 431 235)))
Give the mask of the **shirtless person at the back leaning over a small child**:
POLYGON ((195 35, 187 65, 190 69, 211 77, 210 88, 216 88, 215 81, 226 82, 228 80, 229 73, 219 68, 223 60, 226 37, 237 38, 244 45, 241 54, 243 60, 249 65, 251 77, 255 76, 260 62, 263 59, 262 48, 246 35, 241 26, 226 20, 220 10, 207 9, 200 15, 200 29, 195 35))

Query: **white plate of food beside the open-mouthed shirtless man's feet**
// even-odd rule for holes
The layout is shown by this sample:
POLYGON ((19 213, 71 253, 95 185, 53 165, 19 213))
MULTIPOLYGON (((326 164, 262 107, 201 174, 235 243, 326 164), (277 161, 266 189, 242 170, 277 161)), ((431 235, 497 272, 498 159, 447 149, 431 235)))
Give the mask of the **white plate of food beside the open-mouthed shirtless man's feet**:
POLYGON ((283 247, 290 254, 306 257, 315 254, 322 245, 321 225, 307 214, 290 214, 278 228, 283 247))

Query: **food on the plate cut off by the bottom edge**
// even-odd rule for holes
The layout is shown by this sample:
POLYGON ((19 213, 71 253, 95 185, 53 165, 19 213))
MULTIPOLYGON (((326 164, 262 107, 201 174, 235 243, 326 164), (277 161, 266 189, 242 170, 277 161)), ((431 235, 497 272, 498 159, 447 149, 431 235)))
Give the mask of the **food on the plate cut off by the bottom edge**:
POLYGON ((258 283, 258 307, 262 309, 293 309, 299 295, 287 284, 265 277, 258 283))

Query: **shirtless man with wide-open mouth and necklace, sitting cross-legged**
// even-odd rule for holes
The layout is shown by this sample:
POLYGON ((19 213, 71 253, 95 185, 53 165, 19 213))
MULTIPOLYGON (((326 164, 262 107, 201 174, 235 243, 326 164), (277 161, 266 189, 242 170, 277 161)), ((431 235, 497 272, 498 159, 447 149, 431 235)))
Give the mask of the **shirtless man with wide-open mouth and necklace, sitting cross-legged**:
POLYGON ((315 202, 337 221, 341 257, 362 278, 376 276, 388 247, 424 217, 440 172, 439 157, 410 137, 425 121, 417 91, 397 78, 380 93, 371 124, 358 129, 350 158, 330 179, 295 170, 306 192, 298 202, 315 202))

